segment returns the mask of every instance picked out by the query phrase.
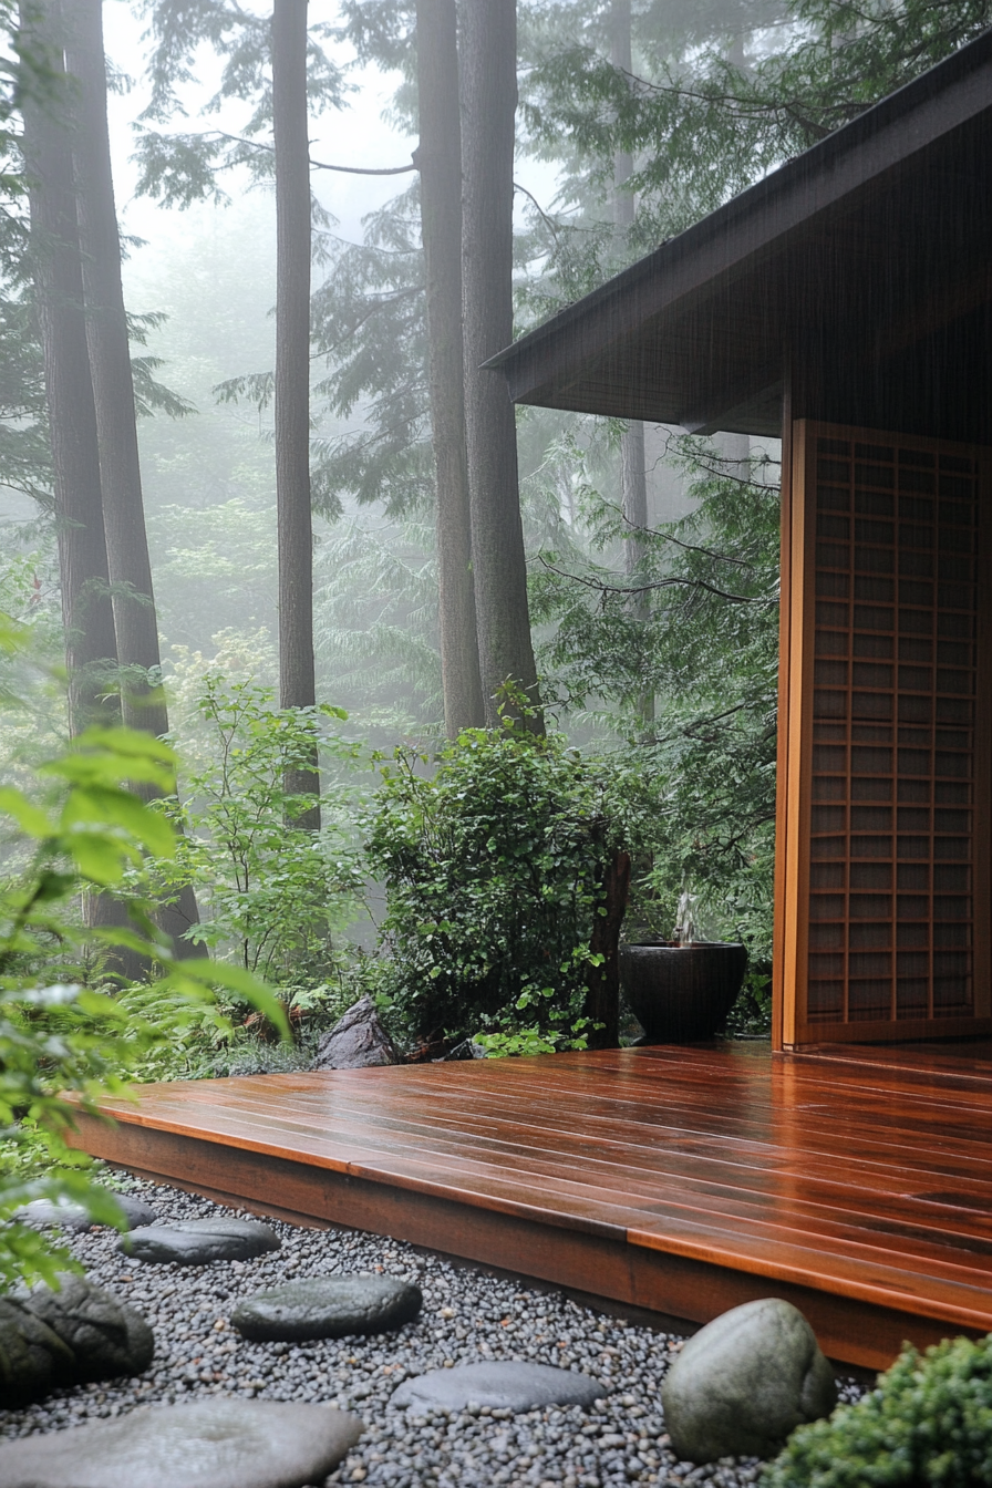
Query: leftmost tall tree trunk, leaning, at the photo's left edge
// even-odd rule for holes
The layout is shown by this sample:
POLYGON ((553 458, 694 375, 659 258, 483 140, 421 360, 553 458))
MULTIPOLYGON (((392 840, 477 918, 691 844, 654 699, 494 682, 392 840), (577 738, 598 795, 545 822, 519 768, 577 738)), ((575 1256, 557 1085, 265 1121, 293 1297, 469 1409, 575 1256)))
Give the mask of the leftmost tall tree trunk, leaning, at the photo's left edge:
MULTIPOLYGON (((57 73, 61 15, 57 3, 24 4, 24 31, 57 73)), ((24 101, 24 153, 30 179, 34 295, 45 353, 45 393, 52 442, 58 561, 73 735, 89 723, 119 722, 106 699, 116 668, 107 543, 100 488, 97 412, 89 379, 83 277, 76 223, 67 88, 45 103, 24 101)))

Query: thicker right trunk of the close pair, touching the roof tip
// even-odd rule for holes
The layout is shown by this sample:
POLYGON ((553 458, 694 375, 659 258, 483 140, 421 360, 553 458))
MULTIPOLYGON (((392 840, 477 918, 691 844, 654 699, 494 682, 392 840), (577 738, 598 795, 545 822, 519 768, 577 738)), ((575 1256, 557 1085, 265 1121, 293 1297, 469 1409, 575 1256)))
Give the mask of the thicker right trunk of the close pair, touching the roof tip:
MULTIPOLYGON (((461 36, 463 308, 471 564, 486 720, 510 682, 534 705, 537 670, 516 466, 503 381, 480 365, 513 339, 516 0, 471 0, 461 36)), ((528 725, 543 728, 540 714, 528 725)))

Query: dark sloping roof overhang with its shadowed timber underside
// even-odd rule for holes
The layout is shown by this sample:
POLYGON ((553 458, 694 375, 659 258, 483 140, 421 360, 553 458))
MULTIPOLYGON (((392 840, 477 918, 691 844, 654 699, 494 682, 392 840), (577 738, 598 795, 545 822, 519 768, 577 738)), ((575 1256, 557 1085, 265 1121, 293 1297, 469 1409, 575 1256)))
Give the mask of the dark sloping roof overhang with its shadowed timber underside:
POLYGON ((516 403, 778 434, 787 359, 988 311, 989 180, 992 31, 485 365, 516 403))

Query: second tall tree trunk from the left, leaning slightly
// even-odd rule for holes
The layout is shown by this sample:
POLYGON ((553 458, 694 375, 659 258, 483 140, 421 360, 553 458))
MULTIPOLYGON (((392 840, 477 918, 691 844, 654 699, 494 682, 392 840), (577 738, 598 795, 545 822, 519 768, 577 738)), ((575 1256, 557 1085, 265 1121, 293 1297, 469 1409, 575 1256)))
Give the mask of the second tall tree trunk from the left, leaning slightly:
MULTIPOLYGON (((76 211, 89 373, 97 414, 107 567, 113 585, 117 659, 123 668, 120 702, 125 723, 162 735, 168 732, 168 713, 158 680, 161 668, 158 616, 144 528, 131 347, 120 281, 120 235, 107 128, 103 0, 71 0, 64 18, 65 64, 77 83, 73 98, 76 211)), ((147 786, 135 789, 144 799, 158 795, 147 786)), ((192 887, 181 891, 175 905, 161 906, 156 918, 161 929, 173 939, 178 955, 205 954, 202 948, 181 939, 183 931, 199 923, 192 887)))

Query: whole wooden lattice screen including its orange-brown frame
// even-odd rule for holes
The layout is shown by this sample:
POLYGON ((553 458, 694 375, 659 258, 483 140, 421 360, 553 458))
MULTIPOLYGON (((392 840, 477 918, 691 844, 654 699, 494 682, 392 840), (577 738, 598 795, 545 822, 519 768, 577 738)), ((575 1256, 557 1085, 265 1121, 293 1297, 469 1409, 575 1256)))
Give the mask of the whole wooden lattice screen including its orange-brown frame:
POLYGON ((983 464, 796 426, 787 1043, 988 1019, 983 464))

